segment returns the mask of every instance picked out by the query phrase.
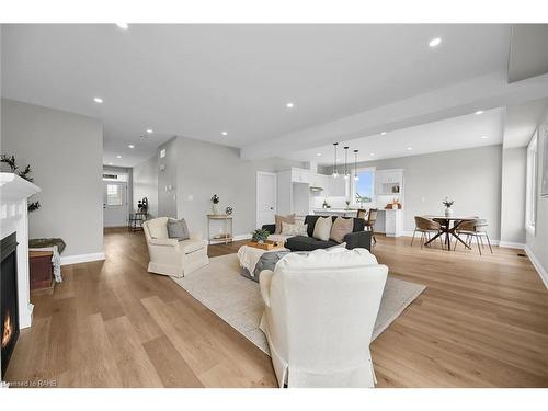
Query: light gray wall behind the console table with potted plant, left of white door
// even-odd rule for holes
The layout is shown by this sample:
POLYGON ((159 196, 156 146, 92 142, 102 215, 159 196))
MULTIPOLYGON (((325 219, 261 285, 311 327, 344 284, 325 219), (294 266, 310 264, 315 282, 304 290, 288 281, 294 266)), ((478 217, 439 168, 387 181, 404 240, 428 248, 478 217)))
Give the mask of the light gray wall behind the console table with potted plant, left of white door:
POLYGON ((185 137, 178 137, 178 216, 186 219, 191 231, 204 236, 214 194, 220 197, 220 212, 233 208, 233 233, 248 235, 256 228, 256 172, 302 167, 281 158, 244 160, 237 148, 185 137))

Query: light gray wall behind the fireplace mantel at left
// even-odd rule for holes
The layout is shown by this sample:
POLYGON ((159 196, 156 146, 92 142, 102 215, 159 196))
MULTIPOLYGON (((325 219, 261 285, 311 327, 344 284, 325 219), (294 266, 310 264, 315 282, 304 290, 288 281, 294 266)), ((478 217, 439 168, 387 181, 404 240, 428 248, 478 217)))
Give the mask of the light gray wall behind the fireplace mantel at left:
POLYGON ((30 237, 60 237, 62 256, 103 252, 103 127, 99 119, 2 99, 2 153, 31 164, 42 207, 30 237))

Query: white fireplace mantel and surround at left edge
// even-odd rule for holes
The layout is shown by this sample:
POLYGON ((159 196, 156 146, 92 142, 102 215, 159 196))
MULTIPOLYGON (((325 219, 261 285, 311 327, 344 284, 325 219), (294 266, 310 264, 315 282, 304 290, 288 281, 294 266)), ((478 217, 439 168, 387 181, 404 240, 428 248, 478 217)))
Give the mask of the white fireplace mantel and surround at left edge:
POLYGON ((16 233, 19 326, 31 327, 33 305, 28 281, 28 212, 27 198, 41 189, 13 173, 0 173, 1 238, 16 233))

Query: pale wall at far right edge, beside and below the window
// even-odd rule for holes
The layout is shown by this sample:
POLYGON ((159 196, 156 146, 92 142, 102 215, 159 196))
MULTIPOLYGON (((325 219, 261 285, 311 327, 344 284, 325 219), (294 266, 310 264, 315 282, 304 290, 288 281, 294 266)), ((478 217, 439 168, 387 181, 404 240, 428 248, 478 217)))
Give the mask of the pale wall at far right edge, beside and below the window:
POLYGON ((544 150, 548 138, 548 117, 539 128, 538 134, 538 194, 537 194, 537 221, 535 235, 526 235, 527 253, 534 260, 537 270, 544 275, 548 287, 548 197, 540 197, 543 181, 544 150), (533 255, 532 255, 533 254, 533 255))

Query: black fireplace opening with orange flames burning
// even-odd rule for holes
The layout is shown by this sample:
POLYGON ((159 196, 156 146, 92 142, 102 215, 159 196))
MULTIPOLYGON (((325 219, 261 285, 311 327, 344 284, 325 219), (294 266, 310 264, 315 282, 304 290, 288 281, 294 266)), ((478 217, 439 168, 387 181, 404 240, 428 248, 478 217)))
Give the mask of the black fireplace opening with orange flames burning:
POLYGON ((0 336, 2 347, 2 379, 19 338, 18 304, 18 241, 15 233, 2 239, 0 267, 0 336))

